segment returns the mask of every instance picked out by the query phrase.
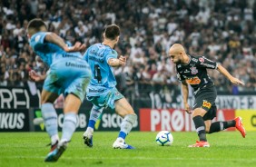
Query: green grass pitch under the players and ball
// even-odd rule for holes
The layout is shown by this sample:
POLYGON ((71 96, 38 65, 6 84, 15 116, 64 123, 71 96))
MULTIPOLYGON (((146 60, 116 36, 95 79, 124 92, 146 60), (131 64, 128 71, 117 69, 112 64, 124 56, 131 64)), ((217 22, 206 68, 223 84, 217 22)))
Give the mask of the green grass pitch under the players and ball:
POLYGON ((47 133, 0 133, 0 166, 256 166, 256 132, 245 139, 239 132, 208 135, 210 148, 188 148, 196 133, 172 133, 172 146, 158 146, 155 133, 132 132, 126 142, 135 150, 114 150, 118 132, 95 132, 94 147, 84 145, 82 132, 74 133, 58 162, 44 162, 50 150, 47 133))

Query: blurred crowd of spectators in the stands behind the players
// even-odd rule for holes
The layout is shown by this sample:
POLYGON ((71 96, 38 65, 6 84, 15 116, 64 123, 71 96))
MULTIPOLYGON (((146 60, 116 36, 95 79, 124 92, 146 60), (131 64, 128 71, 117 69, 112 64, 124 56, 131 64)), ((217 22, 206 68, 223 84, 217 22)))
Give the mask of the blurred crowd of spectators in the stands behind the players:
POLYGON ((40 17, 67 43, 87 46, 102 42, 105 25, 120 25, 121 40, 115 49, 128 62, 114 72, 120 91, 128 97, 172 94, 178 89, 174 64, 167 58, 174 43, 183 44, 189 54, 221 63, 246 83, 238 88, 210 71, 219 91, 256 91, 256 1, 5 0, 0 4, 0 86, 25 85, 30 70, 46 73, 25 32, 28 21, 40 17))

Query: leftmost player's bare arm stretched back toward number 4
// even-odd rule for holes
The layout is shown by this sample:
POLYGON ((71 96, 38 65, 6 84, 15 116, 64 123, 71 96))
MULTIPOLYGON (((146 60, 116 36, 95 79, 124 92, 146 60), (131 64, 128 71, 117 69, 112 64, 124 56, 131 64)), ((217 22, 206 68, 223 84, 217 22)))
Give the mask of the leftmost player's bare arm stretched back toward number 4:
POLYGON ((64 40, 54 33, 47 33, 44 37, 44 41, 60 46, 65 52, 79 52, 85 49, 85 44, 79 42, 76 42, 74 46, 68 47, 67 44, 64 43, 64 40))

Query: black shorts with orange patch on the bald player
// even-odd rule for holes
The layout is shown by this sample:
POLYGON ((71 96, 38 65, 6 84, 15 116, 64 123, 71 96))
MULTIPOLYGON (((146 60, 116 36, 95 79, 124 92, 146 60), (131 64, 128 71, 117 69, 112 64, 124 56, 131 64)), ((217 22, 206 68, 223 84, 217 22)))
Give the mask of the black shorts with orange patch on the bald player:
POLYGON ((217 91, 214 85, 205 85, 198 93, 195 94, 193 110, 196 108, 202 108, 207 113, 202 117, 204 121, 212 120, 216 117, 217 107, 215 100, 217 97, 217 91))

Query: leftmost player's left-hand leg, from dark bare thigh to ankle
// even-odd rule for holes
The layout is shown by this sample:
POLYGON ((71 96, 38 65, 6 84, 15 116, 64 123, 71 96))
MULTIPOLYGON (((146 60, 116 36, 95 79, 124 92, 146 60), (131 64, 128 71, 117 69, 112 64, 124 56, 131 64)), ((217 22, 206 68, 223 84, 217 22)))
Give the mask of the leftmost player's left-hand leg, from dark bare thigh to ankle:
POLYGON ((45 130, 51 138, 50 152, 56 148, 59 142, 57 113, 53 104, 58 96, 57 93, 50 93, 44 89, 42 91, 41 112, 44 119, 45 130))

